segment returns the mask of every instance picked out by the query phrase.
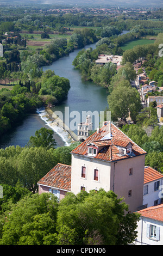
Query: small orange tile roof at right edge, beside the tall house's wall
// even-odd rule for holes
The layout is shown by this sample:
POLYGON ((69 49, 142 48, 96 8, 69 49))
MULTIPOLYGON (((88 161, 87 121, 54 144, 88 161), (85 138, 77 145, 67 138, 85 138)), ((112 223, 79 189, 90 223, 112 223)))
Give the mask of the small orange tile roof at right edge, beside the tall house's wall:
POLYGON ((150 166, 145 166, 144 184, 162 178, 163 174, 159 173, 157 170, 150 166))

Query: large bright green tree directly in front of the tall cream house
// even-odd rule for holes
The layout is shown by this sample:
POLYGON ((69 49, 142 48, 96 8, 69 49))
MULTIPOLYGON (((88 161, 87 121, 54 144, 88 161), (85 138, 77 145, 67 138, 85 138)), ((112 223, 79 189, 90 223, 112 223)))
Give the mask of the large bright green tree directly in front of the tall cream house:
POLYGON ((59 204, 58 245, 127 245, 134 241, 138 216, 124 217, 128 206, 121 200, 102 189, 76 196, 68 192, 59 204))

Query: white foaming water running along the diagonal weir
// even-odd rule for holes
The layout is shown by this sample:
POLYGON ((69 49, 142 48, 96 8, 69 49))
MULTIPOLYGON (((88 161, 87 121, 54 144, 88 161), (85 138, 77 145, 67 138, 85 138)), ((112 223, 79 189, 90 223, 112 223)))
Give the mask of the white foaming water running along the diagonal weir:
POLYGON ((53 121, 47 118, 48 114, 47 114, 45 108, 37 108, 37 113, 39 114, 40 118, 43 121, 45 121, 46 125, 48 127, 50 127, 55 133, 57 133, 60 136, 62 141, 65 143, 65 146, 69 146, 71 144, 68 132, 61 129, 61 127, 59 127, 57 125, 55 125, 55 126, 51 125, 53 123, 53 121))

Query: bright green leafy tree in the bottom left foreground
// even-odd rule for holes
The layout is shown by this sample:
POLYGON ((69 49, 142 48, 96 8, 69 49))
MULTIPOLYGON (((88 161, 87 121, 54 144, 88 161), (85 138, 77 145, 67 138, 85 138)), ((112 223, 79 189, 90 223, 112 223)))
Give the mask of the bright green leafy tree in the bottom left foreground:
POLYGON ((57 212, 58 200, 53 194, 33 194, 19 200, 3 224, 0 244, 55 245, 57 212))

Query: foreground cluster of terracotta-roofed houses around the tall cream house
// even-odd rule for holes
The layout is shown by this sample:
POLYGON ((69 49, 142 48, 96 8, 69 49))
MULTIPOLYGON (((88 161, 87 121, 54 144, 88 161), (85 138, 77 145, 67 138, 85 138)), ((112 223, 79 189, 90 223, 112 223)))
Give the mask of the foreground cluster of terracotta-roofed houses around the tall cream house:
POLYGON ((124 198, 129 213, 141 215, 135 245, 163 243, 163 175, 145 166, 145 150, 105 121, 71 156, 71 166, 58 163, 37 182, 39 193, 50 192, 61 200, 70 191, 112 190, 124 198))

